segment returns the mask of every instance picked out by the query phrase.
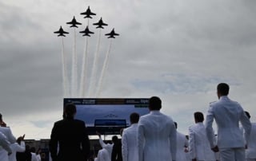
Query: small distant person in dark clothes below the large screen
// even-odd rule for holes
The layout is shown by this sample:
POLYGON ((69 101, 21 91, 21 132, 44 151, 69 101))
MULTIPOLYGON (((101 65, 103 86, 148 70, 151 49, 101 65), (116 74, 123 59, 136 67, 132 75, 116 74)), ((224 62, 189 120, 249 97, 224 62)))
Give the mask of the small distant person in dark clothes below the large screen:
POLYGON ((117 135, 112 137, 112 141, 114 143, 112 154, 111 154, 111 161, 122 161, 122 143, 121 140, 118 139, 117 135))

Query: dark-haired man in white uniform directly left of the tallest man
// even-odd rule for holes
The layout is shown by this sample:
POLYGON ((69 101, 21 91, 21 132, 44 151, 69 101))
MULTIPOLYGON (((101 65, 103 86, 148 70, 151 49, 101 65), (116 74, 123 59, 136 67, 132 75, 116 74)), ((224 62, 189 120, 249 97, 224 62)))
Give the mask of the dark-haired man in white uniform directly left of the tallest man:
MULTIPOLYGON (((195 124, 189 128, 189 151, 192 161, 216 161, 214 151, 210 149, 202 112, 194 112, 195 124)), ((214 135, 212 135, 214 138, 214 135)))

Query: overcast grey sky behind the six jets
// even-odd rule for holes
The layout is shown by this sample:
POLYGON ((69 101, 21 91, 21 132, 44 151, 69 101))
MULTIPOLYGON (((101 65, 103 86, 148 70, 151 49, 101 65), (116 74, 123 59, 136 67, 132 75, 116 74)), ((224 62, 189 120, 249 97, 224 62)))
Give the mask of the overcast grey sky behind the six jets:
MULTIPOLYGON (((99 97, 159 96, 162 112, 187 134, 193 113, 206 114, 218 100, 216 85, 226 82, 230 98, 256 120, 254 0, 8 0, 0 2, 0 112, 15 136, 50 138, 54 121, 62 118, 62 38, 53 32, 59 26, 70 32, 63 39, 70 71, 74 29, 66 22, 75 16, 83 23, 77 31, 83 30, 80 13, 88 6, 97 14, 90 20, 90 60, 99 33, 91 23, 102 17, 109 24, 101 31, 98 69, 110 45, 103 34, 112 28, 120 33, 99 97)), ((81 60, 80 33, 76 46, 81 60)))

